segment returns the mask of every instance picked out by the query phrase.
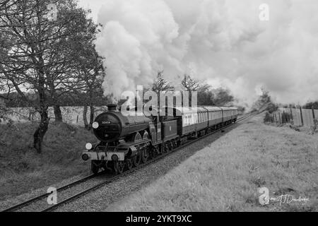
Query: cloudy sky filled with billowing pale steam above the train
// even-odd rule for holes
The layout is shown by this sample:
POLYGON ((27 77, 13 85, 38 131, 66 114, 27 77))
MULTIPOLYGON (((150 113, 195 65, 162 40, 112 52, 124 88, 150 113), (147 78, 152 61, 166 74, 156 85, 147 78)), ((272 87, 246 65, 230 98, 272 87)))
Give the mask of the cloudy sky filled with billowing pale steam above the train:
POLYGON ((317 0, 79 0, 103 29, 107 93, 185 72, 251 103, 261 87, 277 102, 318 99, 317 0), (259 19, 268 4, 269 20, 259 19))

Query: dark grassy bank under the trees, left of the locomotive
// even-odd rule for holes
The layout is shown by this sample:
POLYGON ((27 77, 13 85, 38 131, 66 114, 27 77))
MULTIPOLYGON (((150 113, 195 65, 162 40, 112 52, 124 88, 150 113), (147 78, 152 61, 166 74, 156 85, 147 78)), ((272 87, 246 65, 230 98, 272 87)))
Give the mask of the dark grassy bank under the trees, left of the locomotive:
POLYGON ((68 124, 50 124, 41 154, 33 149, 37 123, 0 124, 0 199, 49 186, 83 172, 81 160, 87 142, 95 141, 89 131, 68 124))

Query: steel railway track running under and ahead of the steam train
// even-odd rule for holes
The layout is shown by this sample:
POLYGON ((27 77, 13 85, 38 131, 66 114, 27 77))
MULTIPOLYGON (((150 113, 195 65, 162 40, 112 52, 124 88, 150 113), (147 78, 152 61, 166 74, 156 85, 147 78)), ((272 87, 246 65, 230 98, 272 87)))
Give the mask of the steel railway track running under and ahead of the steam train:
MULTIPOLYGON (((256 114, 257 114, 257 113, 256 113, 256 114)), ((249 117, 253 117, 253 116, 255 116, 256 114, 247 114, 247 115, 245 115, 245 116, 239 117, 239 118, 237 118, 237 123, 239 123, 239 122, 241 122, 241 121, 244 121, 245 119, 248 119, 249 117)), ((211 132, 211 133, 208 133, 208 134, 206 134, 206 135, 204 135, 204 136, 201 136, 200 138, 196 138, 195 140, 192 140, 192 141, 189 141, 189 142, 187 142, 187 143, 184 143, 184 145, 180 145, 179 147, 175 148, 174 150, 171 150, 171 151, 168 152, 168 153, 164 153, 163 155, 159 155, 158 157, 155 157, 155 158, 152 159, 152 160, 148 160, 146 163, 143 163, 143 164, 139 165, 138 167, 134 167, 134 168, 132 168, 132 169, 130 169, 130 170, 128 170, 128 171, 122 173, 122 174, 114 175, 114 176, 107 175, 107 178, 105 178, 105 177, 102 178, 102 182, 97 183, 97 184, 95 184, 94 186, 90 186, 88 189, 84 189, 83 191, 80 191, 80 192, 78 192, 78 193, 76 193, 76 194, 73 194, 72 196, 68 196, 68 198, 65 198, 64 200, 59 201, 59 203, 57 203, 57 204, 55 204, 55 205, 53 205, 53 206, 49 206, 49 207, 47 207, 47 208, 44 208, 44 209, 38 210, 38 211, 40 211, 40 212, 49 212, 49 211, 52 211, 52 210, 58 208, 59 206, 62 206, 62 205, 64 205, 64 204, 66 204, 66 203, 69 203, 69 202, 75 200, 76 198, 79 198, 79 197, 81 197, 81 196, 84 196, 84 195, 90 193, 91 191, 95 191, 95 190, 99 189, 99 188, 102 187, 102 186, 105 186, 105 185, 107 185, 107 184, 110 184, 110 183, 114 182, 115 180, 117 180, 117 179, 119 179, 119 178, 121 178, 121 177, 126 176, 127 174, 131 174, 132 172, 135 172, 136 170, 141 169, 142 167, 146 167, 146 165, 150 165, 151 163, 156 162, 156 161, 162 159, 163 157, 165 157, 165 156, 167 156, 167 155, 170 155, 171 153, 173 153, 173 152, 175 152, 175 151, 177 151, 177 150, 181 150, 182 148, 185 148, 187 145, 191 145, 192 143, 196 143, 196 141, 200 141, 200 140, 203 139, 203 138, 206 138, 206 137, 208 137, 208 136, 211 136, 211 135, 217 133, 218 131, 223 131, 224 129, 227 129, 227 128, 229 128, 229 127, 231 127, 231 126, 234 126, 234 125, 235 125, 235 124, 230 124, 230 125, 228 125, 228 126, 224 126, 223 128, 218 129, 218 130, 216 130, 216 131, 213 131, 213 132, 211 132)), ((66 190, 68 190, 68 189, 73 188, 74 186, 76 186, 76 185, 78 185, 78 184, 81 184, 81 183, 83 183, 83 182, 87 182, 87 181, 90 180, 90 179, 99 177, 100 175, 102 175, 102 173, 96 174, 96 175, 95 175, 95 174, 90 174, 90 175, 87 176, 87 177, 83 177, 83 178, 81 178, 81 179, 78 179, 78 180, 75 181, 75 182, 71 182, 70 184, 66 184, 65 186, 59 187, 59 188, 57 189, 57 192, 66 191, 66 190)), ((105 176, 105 174, 103 174, 103 176, 105 176)), ((52 194, 52 193, 51 193, 51 194, 52 194)), ((25 208, 25 207, 27 207, 27 206, 33 205, 33 203, 36 203, 37 201, 40 201, 40 200, 43 200, 43 199, 47 198, 49 195, 50 195, 50 194, 42 194, 42 195, 40 195, 40 196, 36 196, 35 198, 31 198, 31 199, 29 199, 29 200, 27 200, 27 201, 24 201, 23 203, 19 203, 19 204, 15 205, 15 206, 12 206, 12 207, 10 207, 10 208, 7 208, 7 209, 5 209, 5 210, 2 210, 2 212, 11 212, 11 211, 16 211, 16 210, 21 210, 21 209, 23 209, 23 208, 25 208)), ((47 204, 47 205, 48 205, 48 204, 47 204)))

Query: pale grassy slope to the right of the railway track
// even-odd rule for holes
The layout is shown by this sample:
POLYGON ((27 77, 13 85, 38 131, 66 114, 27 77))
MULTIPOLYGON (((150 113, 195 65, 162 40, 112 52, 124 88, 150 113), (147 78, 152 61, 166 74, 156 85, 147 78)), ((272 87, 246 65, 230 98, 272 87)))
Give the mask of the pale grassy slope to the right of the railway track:
POLYGON ((310 136, 251 119, 200 150, 165 176, 107 210, 317 211, 318 134, 310 136), (260 187, 270 197, 299 202, 260 206, 260 187))

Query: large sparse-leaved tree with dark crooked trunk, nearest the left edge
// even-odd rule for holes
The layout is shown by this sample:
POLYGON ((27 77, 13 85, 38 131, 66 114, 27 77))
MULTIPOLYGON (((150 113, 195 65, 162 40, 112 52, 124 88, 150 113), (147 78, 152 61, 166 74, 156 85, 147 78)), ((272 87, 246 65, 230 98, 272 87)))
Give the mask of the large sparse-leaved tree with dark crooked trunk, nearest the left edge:
MULTIPOLYGON (((25 90, 35 90, 40 124, 34 133, 34 147, 42 151, 49 126, 48 107, 57 105, 57 91, 76 69, 73 40, 83 38, 86 12, 73 0, 6 1, 0 8, 1 52, 5 52, 0 74, 28 102, 25 90), (47 6, 57 7, 56 18, 47 6), (80 35, 78 35, 80 34, 80 35)), ((81 40, 85 42, 85 40, 81 40)))

